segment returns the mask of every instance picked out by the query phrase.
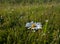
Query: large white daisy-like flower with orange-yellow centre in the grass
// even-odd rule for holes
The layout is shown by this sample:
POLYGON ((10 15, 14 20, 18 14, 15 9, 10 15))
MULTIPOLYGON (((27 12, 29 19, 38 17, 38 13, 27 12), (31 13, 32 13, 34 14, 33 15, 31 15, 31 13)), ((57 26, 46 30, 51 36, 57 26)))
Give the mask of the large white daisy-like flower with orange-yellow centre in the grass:
POLYGON ((39 22, 28 22, 28 23, 26 23, 26 26, 25 27, 27 27, 28 29, 33 29, 33 30, 38 30, 38 29, 42 29, 42 24, 41 23, 39 23, 39 22))

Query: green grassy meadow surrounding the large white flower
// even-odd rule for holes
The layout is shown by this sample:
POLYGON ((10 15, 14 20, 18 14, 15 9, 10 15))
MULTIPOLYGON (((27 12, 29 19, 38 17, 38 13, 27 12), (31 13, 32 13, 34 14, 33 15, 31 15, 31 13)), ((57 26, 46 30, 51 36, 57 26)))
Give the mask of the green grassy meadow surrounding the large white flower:
POLYGON ((0 4, 0 44, 59 44, 59 30, 60 3, 0 4), (29 21, 41 22, 42 29, 26 29, 29 21))

